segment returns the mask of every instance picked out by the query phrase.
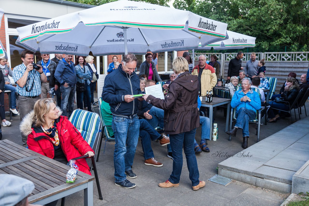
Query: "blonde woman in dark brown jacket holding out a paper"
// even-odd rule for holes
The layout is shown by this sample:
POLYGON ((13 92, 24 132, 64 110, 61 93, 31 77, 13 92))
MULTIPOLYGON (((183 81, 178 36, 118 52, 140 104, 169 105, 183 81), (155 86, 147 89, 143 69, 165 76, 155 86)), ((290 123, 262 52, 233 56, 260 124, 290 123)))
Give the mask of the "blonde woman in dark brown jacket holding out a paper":
POLYGON ((173 171, 166 182, 159 183, 159 187, 179 186, 184 147, 192 188, 198 190, 205 186, 205 181, 199 181, 194 154, 196 128, 200 126, 197 110, 198 79, 196 75, 189 73, 188 61, 183 57, 176 57, 172 67, 177 78, 169 85, 166 99, 158 99, 152 95, 143 96, 148 103, 164 110, 164 131, 170 135, 173 151, 173 171))

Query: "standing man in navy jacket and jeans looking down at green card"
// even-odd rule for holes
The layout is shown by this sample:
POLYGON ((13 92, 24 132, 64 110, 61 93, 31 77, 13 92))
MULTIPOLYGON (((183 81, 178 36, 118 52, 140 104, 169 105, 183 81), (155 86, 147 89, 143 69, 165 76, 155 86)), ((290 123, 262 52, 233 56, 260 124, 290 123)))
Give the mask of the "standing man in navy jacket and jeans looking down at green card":
POLYGON ((136 186, 126 175, 137 177, 132 165, 139 135, 138 99, 131 97, 141 93, 139 78, 134 72, 136 64, 133 54, 124 55, 118 69, 105 77, 102 91, 102 99, 109 103, 113 115, 115 185, 125 188, 136 186))

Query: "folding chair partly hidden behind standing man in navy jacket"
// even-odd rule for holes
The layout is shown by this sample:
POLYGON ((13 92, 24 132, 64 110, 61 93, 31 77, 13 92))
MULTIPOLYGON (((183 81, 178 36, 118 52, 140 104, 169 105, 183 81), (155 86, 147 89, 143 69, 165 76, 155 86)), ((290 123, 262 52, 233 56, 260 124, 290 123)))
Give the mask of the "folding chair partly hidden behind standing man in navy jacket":
POLYGON ((101 144, 102 144, 102 139, 104 138, 105 140, 105 145, 104 145, 104 150, 103 150, 103 154, 105 153, 105 147, 106 147, 106 142, 111 142, 111 141, 115 141, 115 138, 114 137, 111 137, 108 130, 107 130, 107 127, 112 127, 112 125, 106 125, 104 123, 104 119, 103 119, 103 114, 101 112, 101 105, 102 105, 102 102, 103 102, 103 99, 102 97, 100 97, 98 99, 97 102, 94 102, 91 107, 92 107, 92 110, 97 113, 99 116, 100 116, 100 119, 101 119, 101 123, 102 123, 102 127, 103 127, 103 132, 101 134, 101 137, 100 137, 100 143, 99 143, 99 150, 98 150, 98 155, 97 155, 97 159, 96 159, 96 162, 99 161, 99 155, 100 155, 100 151, 101 151, 101 144), (96 103, 98 103, 98 105, 95 105, 96 103))

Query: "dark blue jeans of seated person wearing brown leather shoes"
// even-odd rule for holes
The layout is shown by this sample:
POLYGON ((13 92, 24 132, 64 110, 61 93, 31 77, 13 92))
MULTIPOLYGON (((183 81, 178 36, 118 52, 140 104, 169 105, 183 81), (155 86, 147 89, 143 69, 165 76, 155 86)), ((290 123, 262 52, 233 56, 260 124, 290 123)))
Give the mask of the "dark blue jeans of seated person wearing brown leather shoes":
POLYGON ((151 141, 158 139, 161 135, 155 131, 154 128, 144 119, 139 120, 139 136, 142 141, 142 149, 144 152, 144 158, 154 158, 154 152, 151 148, 151 141))

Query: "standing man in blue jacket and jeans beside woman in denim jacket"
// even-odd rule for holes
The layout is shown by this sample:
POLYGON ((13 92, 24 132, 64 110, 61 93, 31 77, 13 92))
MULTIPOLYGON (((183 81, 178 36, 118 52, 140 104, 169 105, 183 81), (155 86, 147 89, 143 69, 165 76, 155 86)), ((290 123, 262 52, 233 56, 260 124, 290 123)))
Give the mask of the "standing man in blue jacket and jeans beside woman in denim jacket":
POLYGON ((59 60, 55 71, 55 78, 61 85, 62 99, 61 110, 63 116, 71 116, 74 108, 75 91, 77 76, 74 63, 72 61, 73 55, 67 54, 62 60, 59 60), (70 96, 70 99, 69 99, 70 96), (69 114, 66 112, 66 106, 69 100, 69 114))

